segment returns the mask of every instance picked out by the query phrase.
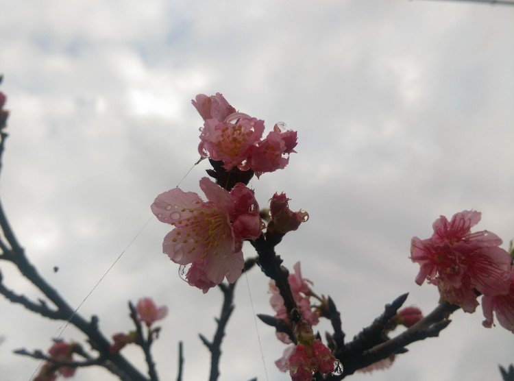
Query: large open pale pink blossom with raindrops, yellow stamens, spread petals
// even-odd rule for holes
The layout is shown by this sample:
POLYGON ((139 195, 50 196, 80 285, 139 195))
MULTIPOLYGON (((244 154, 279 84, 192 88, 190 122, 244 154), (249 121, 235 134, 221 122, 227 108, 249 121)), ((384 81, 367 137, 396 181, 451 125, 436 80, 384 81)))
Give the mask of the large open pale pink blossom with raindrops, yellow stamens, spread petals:
POLYGON ((252 190, 242 187, 236 184, 229 193, 204 177, 200 188, 208 201, 175 188, 158 195, 151 205, 159 221, 175 226, 164 237, 164 254, 179 265, 195 263, 188 281, 204 291, 210 282, 235 282, 243 271, 243 240, 260 235, 257 201, 252 190))

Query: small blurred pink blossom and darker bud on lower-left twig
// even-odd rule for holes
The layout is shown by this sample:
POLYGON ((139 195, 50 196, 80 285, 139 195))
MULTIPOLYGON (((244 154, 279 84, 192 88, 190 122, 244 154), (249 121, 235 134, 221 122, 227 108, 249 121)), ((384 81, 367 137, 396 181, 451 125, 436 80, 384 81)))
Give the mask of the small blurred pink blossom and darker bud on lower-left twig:
MULTIPOLYGON (((136 312, 138 321, 145 323, 147 326, 149 336, 157 337, 160 328, 151 328, 151 325, 168 315, 167 306, 158 307, 151 298, 143 297, 136 304, 136 312)), ((109 347, 109 352, 110 354, 117 354, 125 345, 138 343, 141 339, 138 331, 130 331, 128 334, 123 332, 113 334, 113 343, 109 347)))

